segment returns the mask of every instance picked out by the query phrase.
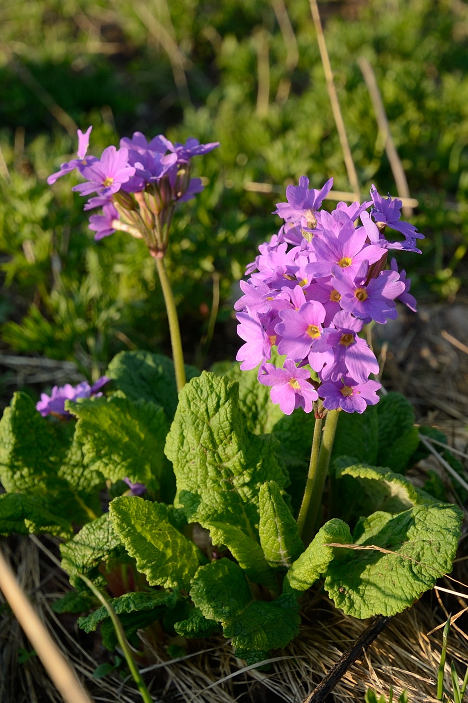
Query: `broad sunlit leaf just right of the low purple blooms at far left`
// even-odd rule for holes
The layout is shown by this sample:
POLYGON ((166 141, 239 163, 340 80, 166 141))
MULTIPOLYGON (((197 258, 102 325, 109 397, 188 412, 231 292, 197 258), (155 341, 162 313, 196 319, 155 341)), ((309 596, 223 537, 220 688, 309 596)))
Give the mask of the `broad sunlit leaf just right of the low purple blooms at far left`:
POLYGON ((164 460, 167 421, 154 403, 111 396, 67 401, 67 409, 79 418, 77 441, 94 470, 116 482, 158 487, 164 460))

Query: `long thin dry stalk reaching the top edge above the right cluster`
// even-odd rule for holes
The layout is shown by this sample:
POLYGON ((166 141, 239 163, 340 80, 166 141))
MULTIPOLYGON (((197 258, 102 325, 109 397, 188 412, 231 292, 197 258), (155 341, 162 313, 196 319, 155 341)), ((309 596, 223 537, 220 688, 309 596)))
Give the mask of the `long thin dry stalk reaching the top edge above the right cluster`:
POLYGON ((332 103, 332 112, 334 117, 334 122, 337 125, 337 131, 339 136, 339 143, 342 145, 344 164, 346 165, 346 172, 348 173, 349 183, 353 190, 355 200, 360 200, 360 188, 358 181, 358 174, 356 173, 356 167, 354 166, 353 157, 351 155, 351 149, 349 148, 348 136, 346 135, 346 127, 344 127, 342 110, 339 107, 339 101, 337 96, 337 89, 333 82, 333 71, 330 64, 330 57, 328 56, 327 44, 325 42, 325 35, 323 34, 322 22, 320 20, 320 13, 318 11, 317 0, 309 0, 311 6, 311 13, 313 18, 313 24, 316 27, 318 48, 320 49, 320 58, 322 59, 323 70, 325 72, 325 80, 327 82, 327 91, 330 98, 330 103, 332 103))

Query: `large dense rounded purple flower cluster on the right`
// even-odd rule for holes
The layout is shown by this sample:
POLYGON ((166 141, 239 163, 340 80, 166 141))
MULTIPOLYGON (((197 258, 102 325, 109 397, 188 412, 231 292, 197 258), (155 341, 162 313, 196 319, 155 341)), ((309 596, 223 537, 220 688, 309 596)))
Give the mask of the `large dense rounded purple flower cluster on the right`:
POLYGON ((395 259, 386 270, 389 249, 420 252, 422 235, 400 220, 401 200, 384 199, 372 186, 369 202, 339 202, 330 213, 320 207, 331 188, 332 179, 321 191, 309 189, 305 176, 287 187, 287 202, 274 213, 285 224, 259 247, 234 306, 245 341, 240 368, 259 366, 259 382, 271 386, 273 403, 287 415, 298 407, 310 413, 319 398, 327 410, 348 413, 376 404, 380 384, 369 376, 379 365, 359 334, 372 320, 394 320, 396 300, 416 311, 405 271, 398 273, 395 259), (386 239, 386 228, 404 240, 386 239), (283 368, 268 363, 273 346, 286 356, 283 368))

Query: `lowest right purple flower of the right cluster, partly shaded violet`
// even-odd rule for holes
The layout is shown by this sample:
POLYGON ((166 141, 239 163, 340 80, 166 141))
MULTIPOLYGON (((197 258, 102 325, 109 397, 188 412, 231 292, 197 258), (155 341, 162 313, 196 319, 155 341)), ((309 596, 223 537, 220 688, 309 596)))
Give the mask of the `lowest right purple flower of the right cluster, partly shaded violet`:
POLYGON ((323 383, 318 393, 327 410, 342 408, 346 413, 363 413, 368 405, 379 402, 377 391, 380 387, 377 381, 358 383, 349 376, 344 376, 337 381, 323 383))

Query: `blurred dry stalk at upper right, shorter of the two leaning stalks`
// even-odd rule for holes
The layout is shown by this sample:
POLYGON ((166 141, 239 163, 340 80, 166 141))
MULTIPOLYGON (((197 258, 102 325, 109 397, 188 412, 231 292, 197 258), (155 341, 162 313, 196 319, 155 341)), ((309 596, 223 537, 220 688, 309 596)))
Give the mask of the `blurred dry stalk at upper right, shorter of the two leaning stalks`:
MULTIPOLYGON (((379 91, 379 86, 377 85, 377 80, 375 78, 375 73, 368 62, 367 58, 360 56, 358 58, 358 64, 360 70, 363 72, 365 84, 368 86, 368 91, 370 95, 370 100, 372 101, 372 106, 375 112, 375 119, 377 120, 377 125, 379 130, 384 137, 385 151, 386 155, 389 157, 391 172, 394 174, 394 179, 396 183, 396 191, 401 198, 410 198, 410 190, 408 188, 408 181, 406 180, 405 172, 403 170, 403 164, 398 156, 398 151, 396 150, 394 140, 391 136, 389 120, 387 120, 386 112, 384 108, 384 103, 382 102, 382 96, 379 91)), ((405 217, 411 217, 412 208, 403 205, 403 214, 405 217)))

